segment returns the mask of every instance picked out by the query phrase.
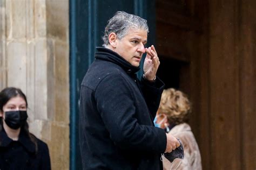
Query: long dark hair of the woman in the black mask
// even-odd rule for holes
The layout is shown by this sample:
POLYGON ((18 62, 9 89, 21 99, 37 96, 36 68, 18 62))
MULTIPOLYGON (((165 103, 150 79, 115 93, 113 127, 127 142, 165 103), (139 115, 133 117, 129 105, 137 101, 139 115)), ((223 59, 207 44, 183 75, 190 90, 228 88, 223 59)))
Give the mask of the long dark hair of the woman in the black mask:
MULTIPOLYGON (((7 87, 5 89, 3 89, 0 92, 0 111, 3 111, 3 107, 4 105, 13 97, 22 97, 25 102, 26 102, 26 108, 28 108, 28 102, 26 100, 26 96, 25 94, 22 92, 21 89, 19 88, 15 88, 15 87, 7 87)), ((2 131, 3 128, 3 118, 0 117, 0 132, 2 131)), ((36 151, 37 151, 37 139, 35 136, 33 136, 33 134, 31 134, 29 132, 29 124, 28 122, 25 122, 25 124, 21 127, 21 130, 24 130, 24 132, 29 136, 30 140, 35 144, 36 146, 36 151)), ((0 141, 1 143, 1 141, 0 141)))

